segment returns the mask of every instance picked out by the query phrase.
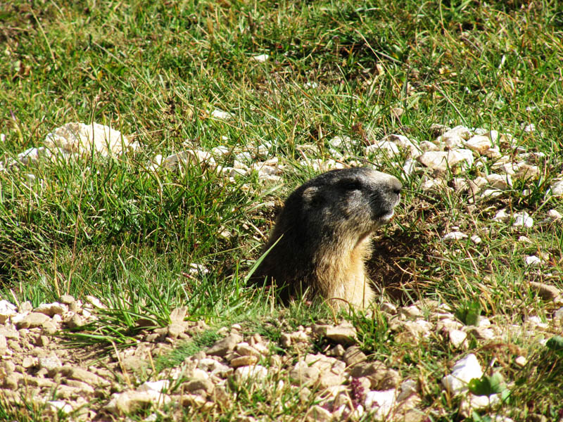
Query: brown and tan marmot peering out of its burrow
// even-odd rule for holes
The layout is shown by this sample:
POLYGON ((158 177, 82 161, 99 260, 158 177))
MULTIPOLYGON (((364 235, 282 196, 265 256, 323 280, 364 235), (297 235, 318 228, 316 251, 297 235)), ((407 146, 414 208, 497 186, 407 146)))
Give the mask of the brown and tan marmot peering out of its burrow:
POLYGON ((305 295, 336 307, 366 307, 374 299, 364 267, 370 238, 393 217, 402 186, 367 167, 331 170, 299 186, 286 199, 262 253, 272 249, 251 280, 276 286, 284 300, 305 295))

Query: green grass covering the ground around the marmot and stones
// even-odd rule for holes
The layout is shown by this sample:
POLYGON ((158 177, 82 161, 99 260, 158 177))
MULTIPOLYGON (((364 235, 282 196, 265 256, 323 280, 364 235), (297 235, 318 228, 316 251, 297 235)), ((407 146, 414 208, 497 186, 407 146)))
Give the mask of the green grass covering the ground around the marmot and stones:
MULTIPOLYGON (((405 191, 379 240, 398 265, 378 269, 375 257, 372 267, 391 282, 384 295, 396 303, 479 302, 483 316, 507 324, 545 319, 553 309, 526 283, 563 288, 562 224, 514 229, 491 218, 502 207, 536 222, 548 210, 563 213, 561 198, 545 195, 563 172, 562 40, 558 1, 2 1, 0 162, 74 121, 110 125, 141 148, 0 172, 0 296, 39 305, 95 295, 115 310, 96 327, 106 343, 130 343, 135 315, 165 325, 178 306, 210 326, 243 321, 249 330, 278 318, 293 327, 327 318, 322 306, 272 306, 244 283, 274 219, 276 207, 265 204, 279 205, 315 174, 298 165, 296 146, 315 144, 328 159, 328 141, 350 136, 357 142, 349 152, 362 155, 365 140, 431 141, 432 124, 463 124, 510 132, 526 151, 545 153, 539 176, 468 210, 445 188, 423 192, 421 174, 377 160, 405 191), (262 54, 264 62, 254 59, 262 54), (232 118, 213 117, 216 109, 232 118), (527 124, 536 130, 524 131, 527 124), (267 145, 267 157, 286 163, 283 183, 265 187, 256 174, 229 182, 195 165, 149 168, 186 141, 203 150, 267 145), (441 236, 451 226, 483 242, 446 245, 441 236), (529 243, 518 241, 523 235, 529 243), (547 266, 524 265, 525 255, 539 253, 547 266), (186 276, 191 263, 210 271, 186 276)), ((460 354, 435 340, 412 350, 385 321, 343 315, 362 333, 365 352, 424 380, 424 407, 443 412, 432 420, 460 420, 439 385, 460 354)), ((530 364, 504 368, 514 381, 504 413, 557 420, 563 362, 538 344, 513 345, 530 364)), ((474 351, 506 362, 511 347, 474 351)))

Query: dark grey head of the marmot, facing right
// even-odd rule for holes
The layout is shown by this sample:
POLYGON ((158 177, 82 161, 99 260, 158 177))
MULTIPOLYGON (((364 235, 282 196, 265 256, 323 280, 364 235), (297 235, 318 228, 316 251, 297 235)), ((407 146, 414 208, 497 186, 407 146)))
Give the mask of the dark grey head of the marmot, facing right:
POLYGON ((402 187, 391 174, 367 167, 332 170, 299 187, 286 207, 301 208, 308 229, 317 226, 325 236, 328 230, 363 237, 393 217, 402 187))

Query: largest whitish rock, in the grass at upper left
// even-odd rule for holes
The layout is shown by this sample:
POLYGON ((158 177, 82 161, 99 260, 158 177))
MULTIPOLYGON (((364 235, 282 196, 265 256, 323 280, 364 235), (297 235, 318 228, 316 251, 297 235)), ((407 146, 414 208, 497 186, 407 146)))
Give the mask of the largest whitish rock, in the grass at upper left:
POLYGON ((70 122, 56 128, 45 137, 48 148, 61 148, 63 153, 91 153, 92 151, 106 157, 110 154, 120 155, 127 150, 139 147, 137 142, 130 141, 116 129, 99 123, 84 124, 70 122))

